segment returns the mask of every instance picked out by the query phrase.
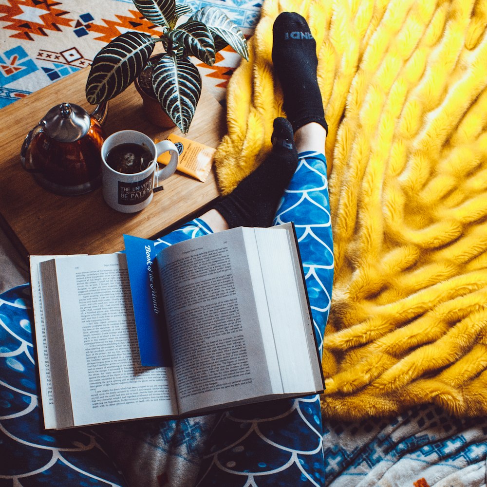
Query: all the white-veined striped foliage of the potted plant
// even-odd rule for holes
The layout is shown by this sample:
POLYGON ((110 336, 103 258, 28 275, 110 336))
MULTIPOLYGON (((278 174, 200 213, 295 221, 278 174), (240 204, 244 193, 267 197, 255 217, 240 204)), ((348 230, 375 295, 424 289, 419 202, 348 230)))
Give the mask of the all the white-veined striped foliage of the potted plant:
POLYGON ((187 133, 202 85, 189 56, 211 66, 215 53, 230 45, 248 60, 244 34, 217 7, 203 7, 183 20, 191 8, 175 0, 132 1, 145 19, 162 27, 162 35, 133 31, 110 41, 94 57, 86 98, 91 104, 108 101, 149 70, 152 94, 174 124, 187 133), (152 61, 150 56, 157 42, 162 43, 164 53, 152 61))

